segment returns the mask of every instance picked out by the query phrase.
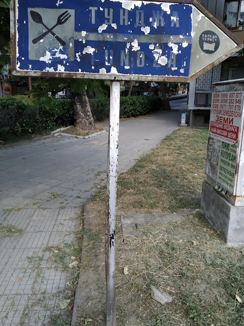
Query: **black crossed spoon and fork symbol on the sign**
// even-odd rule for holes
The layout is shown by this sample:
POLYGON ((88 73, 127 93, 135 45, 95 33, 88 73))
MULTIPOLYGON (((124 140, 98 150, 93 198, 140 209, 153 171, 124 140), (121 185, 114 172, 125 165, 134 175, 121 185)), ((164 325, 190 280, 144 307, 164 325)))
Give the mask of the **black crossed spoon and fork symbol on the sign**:
POLYGON ((52 26, 51 29, 49 29, 44 22, 42 21, 42 16, 36 12, 31 10, 30 14, 32 16, 32 19, 38 23, 38 24, 42 24, 45 29, 47 30, 45 33, 43 33, 42 35, 39 35, 38 37, 36 37, 34 40, 32 40, 32 43, 36 44, 37 42, 41 41, 46 35, 48 35, 49 33, 52 34, 52 36, 54 36, 54 38, 63 46, 66 45, 66 42, 63 41, 60 37, 58 37, 55 33, 53 33, 53 29, 55 29, 56 26, 58 25, 63 25, 70 17, 70 13, 68 12, 68 10, 66 10, 65 12, 63 12, 63 14, 59 15, 57 17, 57 22, 55 23, 55 25, 52 26))

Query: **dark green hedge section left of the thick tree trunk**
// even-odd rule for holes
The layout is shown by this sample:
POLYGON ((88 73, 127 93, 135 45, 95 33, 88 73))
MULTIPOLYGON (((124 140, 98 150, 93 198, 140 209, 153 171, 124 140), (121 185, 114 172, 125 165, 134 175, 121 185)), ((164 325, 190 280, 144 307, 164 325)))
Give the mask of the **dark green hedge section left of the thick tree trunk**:
POLYGON ((52 100, 46 107, 46 99, 40 100, 36 109, 22 100, 0 100, 0 137, 8 135, 35 134, 60 126, 73 124, 73 108, 70 100, 52 100))

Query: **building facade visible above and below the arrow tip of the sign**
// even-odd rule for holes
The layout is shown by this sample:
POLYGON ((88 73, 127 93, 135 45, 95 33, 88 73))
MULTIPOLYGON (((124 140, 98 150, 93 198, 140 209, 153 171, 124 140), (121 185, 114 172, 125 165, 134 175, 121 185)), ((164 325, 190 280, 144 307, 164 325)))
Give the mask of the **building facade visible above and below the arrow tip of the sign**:
MULTIPOLYGON (((240 41, 244 41, 244 0, 200 0, 200 4, 240 41)), ((209 124, 212 83, 243 77, 244 56, 236 53, 190 83, 188 101, 190 126, 209 124)))

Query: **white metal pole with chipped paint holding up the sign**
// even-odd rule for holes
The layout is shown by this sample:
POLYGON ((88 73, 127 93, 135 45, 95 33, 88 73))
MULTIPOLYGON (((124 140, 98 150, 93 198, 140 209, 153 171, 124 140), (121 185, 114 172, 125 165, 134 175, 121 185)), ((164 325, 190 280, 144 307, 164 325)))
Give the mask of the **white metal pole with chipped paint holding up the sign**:
POLYGON ((106 203, 106 291, 107 291, 107 326, 116 324, 115 296, 115 218, 116 190, 118 172, 118 130, 119 130, 120 82, 112 80, 110 86, 110 114, 108 139, 108 174, 106 203))

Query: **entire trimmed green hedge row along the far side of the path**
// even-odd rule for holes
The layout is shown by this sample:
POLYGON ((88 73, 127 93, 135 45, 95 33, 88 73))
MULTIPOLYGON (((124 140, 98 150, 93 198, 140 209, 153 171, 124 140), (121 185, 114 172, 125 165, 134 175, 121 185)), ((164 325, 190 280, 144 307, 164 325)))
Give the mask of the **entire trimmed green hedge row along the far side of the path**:
MULTIPOLYGON (((90 108, 95 121, 109 118, 108 98, 90 99, 90 108)), ((162 99, 157 96, 130 96, 120 99, 120 117, 136 117, 162 108, 162 99)), ((0 99, 0 140, 8 134, 25 135, 41 133, 58 127, 72 125, 73 106, 71 100, 54 99, 47 109, 44 103, 36 110, 22 101, 4 98, 0 99)))

